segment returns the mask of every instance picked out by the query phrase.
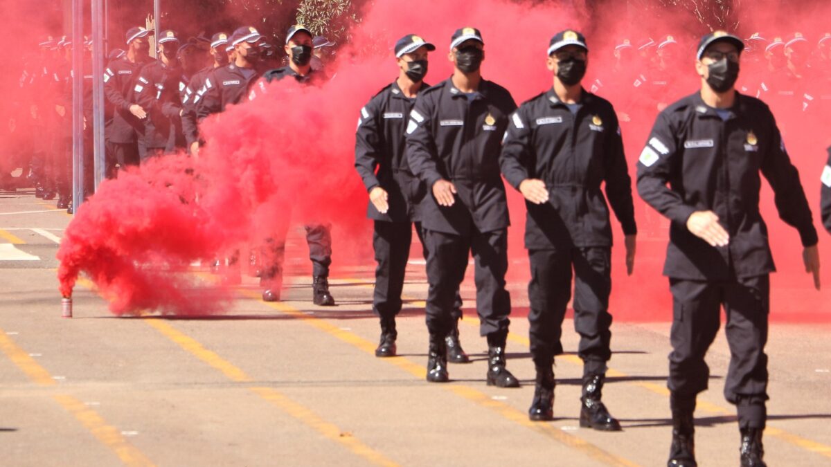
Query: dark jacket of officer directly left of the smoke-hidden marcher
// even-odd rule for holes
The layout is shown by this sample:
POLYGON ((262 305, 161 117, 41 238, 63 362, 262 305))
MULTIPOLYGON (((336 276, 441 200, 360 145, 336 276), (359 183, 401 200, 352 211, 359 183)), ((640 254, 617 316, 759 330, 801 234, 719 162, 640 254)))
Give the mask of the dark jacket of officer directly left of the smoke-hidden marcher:
POLYGON ((255 68, 253 74, 246 78, 234 63, 215 68, 205 78, 206 91, 202 97, 201 105, 196 107, 198 120, 224 112, 226 106, 238 104, 245 100, 248 97, 248 92, 251 91, 251 87, 259 77, 260 72, 255 68))

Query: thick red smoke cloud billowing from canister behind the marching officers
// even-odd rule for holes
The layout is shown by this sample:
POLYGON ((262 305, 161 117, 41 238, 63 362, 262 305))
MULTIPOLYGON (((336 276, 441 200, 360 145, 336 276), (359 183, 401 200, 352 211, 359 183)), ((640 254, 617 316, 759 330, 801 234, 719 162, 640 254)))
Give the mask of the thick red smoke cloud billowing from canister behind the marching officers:
MULTIPOLYGON (((76 274, 85 272, 105 297, 116 297, 116 312, 142 308, 218 311, 221 307, 209 307, 204 300, 194 302, 194 295, 216 297, 216 292, 219 297, 227 297, 226 290, 205 283, 197 286, 185 273, 159 272, 143 265, 175 268, 213 258, 214 254, 227 255, 236 248, 245 251, 248 245, 259 244, 287 223, 334 224, 334 278, 340 265, 373 266, 371 222, 365 216, 366 192, 352 165, 354 131, 361 106, 395 79, 397 68, 391 48, 406 33, 419 34, 435 43, 437 50, 430 54, 426 78, 435 83, 451 72, 447 60, 450 34, 458 27, 478 27, 486 43, 484 77, 507 87, 521 103, 551 86, 552 77, 544 65, 550 37, 567 27, 589 32, 589 73, 584 84, 597 86, 598 95, 612 101, 619 112, 627 113, 629 118, 622 122, 622 131, 634 178, 634 164, 659 102, 648 94, 638 94, 628 82, 630 75, 652 72, 651 68, 633 59, 623 64, 627 73, 613 71, 612 50, 624 38, 637 47, 639 40, 650 35, 656 42, 673 35, 679 45, 674 56, 667 59, 671 86, 664 101, 669 103, 700 86, 694 74, 693 50, 705 31, 691 32, 691 17, 683 11, 676 15, 665 11, 660 21, 653 21, 617 3, 622 2, 605 2, 606 7, 598 8, 603 18, 601 27, 595 22, 582 23, 580 12, 560 5, 483 0, 421 2, 417 8, 403 10, 401 2, 374 2, 352 30, 352 41, 342 45, 338 61, 327 71, 333 76, 331 81, 320 87, 275 83, 256 100, 209 119, 204 125, 208 145, 198 160, 165 158, 102 185, 101 192, 84 205, 67 229, 59 255, 61 291, 66 294, 76 274), (644 31, 642 25, 660 26, 644 31), (182 174, 188 164, 193 166, 194 176, 182 174), (194 199, 198 201, 194 203, 194 199), (177 280, 167 281, 170 277, 177 280), (194 287, 199 287, 199 293, 181 292, 194 287)), ((810 25, 812 18, 829 17, 831 8, 826 6, 824 10, 811 11, 812 16, 802 19, 810 25)), ((740 16, 745 27, 740 34, 745 37, 757 29, 779 31, 783 36, 793 32, 777 29, 779 23, 774 22, 774 16, 769 20, 755 11, 740 16), (754 22, 755 18, 760 22, 754 22)), ((817 26, 804 30, 812 44, 819 35, 817 26)), ((745 63, 743 66, 742 77, 753 76, 750 67, 745 63)), ((817 125, 806 120, 827 122, 831 115, 827 109, 824 112, 812 116, 798 109, 774 107, 812 207, 819 205, 819 170, 824 147, 831 141, 827 130, 819 132, 817 125)), ((812 290, 799 258, 798 235, 777 219, 772 194, 770 189, 766 191, 762 196, 763 215, 768 220, 779 267, 773 278, 774 316, 818 317, 822 303, 831 298, 827 292, 831 277, 824 273, 826 291, 812 290)), ((509 231, 509 275, 512 281, 524 282, 529 276, 523 248, 524 202, 513 189, 509 189, 509 204, 514 224, 509 231)), ((623 273, 622 233, 615 228, 618 241, 613 253, 612 313, 618 320, 669 319, 668 281, 661 276, 666 251, 666 226, 661 223, 665 221, 659 219, 656 227, 647 229, 648 216, 656 219, 656 214, 637 195, 636 210, 642 234, 636 272, 631 278, 623 273)), ((300 248, 305 255, 305 245, 300 248)), ((820 248, 825 250, 824 245, 820 248)), ((825 251, 821 254, 831 258, 825 251)), ((826 264, 824 269, 829 268, 831 265, 826 264)), ((524 297, 514 298, 514 302, 525 302, 524 297)))

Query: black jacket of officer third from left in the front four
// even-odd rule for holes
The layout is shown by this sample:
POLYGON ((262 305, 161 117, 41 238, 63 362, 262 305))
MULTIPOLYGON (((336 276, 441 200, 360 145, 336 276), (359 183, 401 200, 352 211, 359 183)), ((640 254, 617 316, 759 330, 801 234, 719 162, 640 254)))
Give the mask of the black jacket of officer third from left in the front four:
POLYGON ((511 116, 502 174, 516 189, 524 179, 541 179, 548 188, 548 203, 526 202, 525 248, 611 246, 603 182, 624 234, 637 234, 632 179, 612 104, 586 91, 581 104, 575 115, 549 89, 511 116))

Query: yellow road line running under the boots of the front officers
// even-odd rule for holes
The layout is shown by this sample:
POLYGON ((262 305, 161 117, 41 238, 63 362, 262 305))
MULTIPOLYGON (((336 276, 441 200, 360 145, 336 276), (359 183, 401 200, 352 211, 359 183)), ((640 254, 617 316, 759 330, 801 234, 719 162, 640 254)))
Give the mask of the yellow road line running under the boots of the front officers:
MULTIPOLYGON (((371 355, 373 358, 375 357, 376 345, 373 342, 367 341, 363 337, 360 337, 353 332, 345 331, 340 327, 334 326, 331 323, 326 322, 320 318, 307 315, 298 310, 297 308, 288 305, 285 302, 263 302, 260 299, 258 292, 249 290, 240 290, 238 292, 245 297, 258 299, 262 304, 271 307, 277 310, 278 312, 283 312, 285 314, 298 317, 300 321, 305 322, 311 325, 312 327, 316 327, 317 329, 321 330, 322 332, 326 332, 332 337, 337 337, 337 339, 340 339, 342 342, 347 342, 348 344, 351 344, 359 350, 371 355)), ((423 380, 426 376, 427 371, 424 365, 418 365, 415 362, 406 359, 405 357, 395 356, 391 358, 385 358, 384 361, 391 363, 392 365, 398 366, 399 368, 409 372, 412 376, 416 376, 421 380, 423 380)), ((627 467, 637 465, 630 460, 626 460, 617 455, 612 455, 611 453, 608 453, 607 451, 602 450, 597 446, 589 443, 588 441, 578 438, 577 436, 568 435, 568 433, 558 429, 558 427, 554 425, 533 422, 528 419, 528 414, 524 413, 523 411, 516 410, 514 407, 509 406, 504 402, 494 401, 494 399, 492 399, 484 392, 476 390, 470 386, 463 386, 457 384, 437 386, 440 386, 445 390, 454 393, 457 396, 461 396, 468 401, 474 402, 478 406, 485 407, 489 410, 494 410, 494 412, 496 412, 499 415, 502 415, 507 420, 513 421, 514 423, 535 430, 538 433, 546 435, 549 438, 552 438, 553 440, 557 440, 563 445, 566 445, 570 448, 579 450, 584 455, 587 455, 593 460, 602 462, 602 464, 604 465, 620 465, 627 467)))

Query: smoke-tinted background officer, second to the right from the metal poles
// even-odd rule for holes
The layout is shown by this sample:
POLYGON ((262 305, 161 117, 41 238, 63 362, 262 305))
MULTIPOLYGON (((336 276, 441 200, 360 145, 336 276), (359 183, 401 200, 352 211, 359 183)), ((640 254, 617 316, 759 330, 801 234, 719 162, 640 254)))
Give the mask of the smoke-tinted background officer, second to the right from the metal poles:
POLYGON ((177 146, 184 145, 181 135, 178 84, 179 37, 174 31, 164 31, 158 37, 159 59, 150 61, 139 72, 135 81, 134 100, 147 112, 144 127, 139 133, 141 160, 152 156, 170 154, 177 146))

